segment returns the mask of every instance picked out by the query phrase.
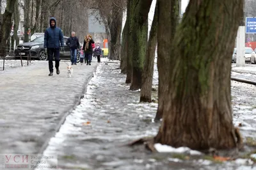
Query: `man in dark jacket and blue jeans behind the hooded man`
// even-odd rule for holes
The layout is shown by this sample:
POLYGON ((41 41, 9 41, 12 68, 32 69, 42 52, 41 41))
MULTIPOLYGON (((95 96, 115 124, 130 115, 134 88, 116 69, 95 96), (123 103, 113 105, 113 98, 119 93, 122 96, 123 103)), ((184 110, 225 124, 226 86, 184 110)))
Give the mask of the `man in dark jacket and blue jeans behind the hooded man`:
POLYGON ((67 46, 70 48, 70 61, 71 65, 76 65, 76 54, 77 50, 80 48, 79 40, 76 37, 76 33, 72 31, 71 36, 66 42, 67 46))

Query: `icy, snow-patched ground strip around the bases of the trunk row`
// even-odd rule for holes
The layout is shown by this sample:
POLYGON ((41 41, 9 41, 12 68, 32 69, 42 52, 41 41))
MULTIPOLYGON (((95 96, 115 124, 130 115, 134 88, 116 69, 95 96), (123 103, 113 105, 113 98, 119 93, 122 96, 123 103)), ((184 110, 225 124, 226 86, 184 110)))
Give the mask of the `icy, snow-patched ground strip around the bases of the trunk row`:
MULTIPOLYGON (((44 155, 58 155, 59 169, 226 170, 248 167, 236 162, 216 164, 202 160, 202 157, 193 158, 190 155, 190 159, 184 161, 180 155, 152 154, 143 146, 125 146, 140 137, 156 135, 160 124, 152 121, 157 104, 140 104, 140 92, 129 91, 129 85, 124 83, 125 75, 120 74, 120 70, 115 68, 118 68, 118 63, 100 65, 97 68, 96 76, 90 81, 81 104, 67 116, 60 131, 51 138, 44 155)), ((156 77, 154 80, 156 81, 156 77)), ((243 93, 246 88, 241 83, 232 82, 233 84, 232 104, 235 108, 235 123, 246 125, 249 117, 237 116, 243 110, 241 105, 244 103, 241 103, 241 97, 244 102, 248 100, 246 93, 243 93)), ((255 132, 252 132, 252 135, 255 136, 255 132)))

